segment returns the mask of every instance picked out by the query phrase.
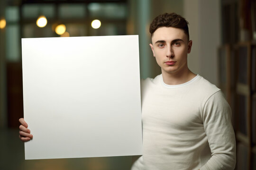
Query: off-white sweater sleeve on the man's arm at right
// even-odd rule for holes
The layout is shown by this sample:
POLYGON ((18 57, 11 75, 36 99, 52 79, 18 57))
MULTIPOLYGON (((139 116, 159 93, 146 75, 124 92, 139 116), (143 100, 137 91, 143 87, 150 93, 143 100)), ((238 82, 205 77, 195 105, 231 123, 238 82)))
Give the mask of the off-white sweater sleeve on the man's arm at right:
POLYGON ((236 139, 231 124, 231 109, 221 91, 214 93, 207 100, 202 119, 211 158, 200 170, 234 170, 236 139))

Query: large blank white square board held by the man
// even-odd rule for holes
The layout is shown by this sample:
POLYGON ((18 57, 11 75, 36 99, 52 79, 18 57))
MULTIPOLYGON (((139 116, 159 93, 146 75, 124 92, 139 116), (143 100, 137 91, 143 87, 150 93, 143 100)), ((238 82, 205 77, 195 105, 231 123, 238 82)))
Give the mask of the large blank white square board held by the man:
POLYGON ((25 159, 142 154, 138 36, 22 39, 25 159))

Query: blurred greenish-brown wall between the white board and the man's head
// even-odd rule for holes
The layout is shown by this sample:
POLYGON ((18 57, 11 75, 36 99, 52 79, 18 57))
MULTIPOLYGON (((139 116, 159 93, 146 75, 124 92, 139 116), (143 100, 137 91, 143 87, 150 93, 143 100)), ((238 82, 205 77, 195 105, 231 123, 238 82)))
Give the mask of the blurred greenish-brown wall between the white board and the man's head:
POLYGON ((161 69, 149 46, 149 25, 156 16, 165 12, 183 15, 183 0, 130 0, 129 6, 128 34, 139 35, 140 76, 154 78, 161 74, 161 69))

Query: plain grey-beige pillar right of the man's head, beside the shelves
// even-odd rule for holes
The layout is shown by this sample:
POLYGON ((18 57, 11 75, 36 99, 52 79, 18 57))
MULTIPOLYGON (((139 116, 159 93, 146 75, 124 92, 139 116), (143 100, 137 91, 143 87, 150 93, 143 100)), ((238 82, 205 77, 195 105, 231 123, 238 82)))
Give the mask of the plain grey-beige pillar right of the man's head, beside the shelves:
POLYGON ((217 48, 221 42, 220 0, 184 0, 183 11, 189 21, 192 51, 189 68, 217 85, 217 48))

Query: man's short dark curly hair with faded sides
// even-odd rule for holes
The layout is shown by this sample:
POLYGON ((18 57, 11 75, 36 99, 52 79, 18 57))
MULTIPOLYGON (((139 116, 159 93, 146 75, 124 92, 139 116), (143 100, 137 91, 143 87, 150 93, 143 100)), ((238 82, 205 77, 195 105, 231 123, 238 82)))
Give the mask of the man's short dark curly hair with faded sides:
POLYGON ((155 30, 160 27, 174 27, 174 28, 180 28, 182 29, 185 34, 188 37, 189 41, 189 30, 188 30, 188 21, 183 18, 182 16, 176 14, 176 13, 165 13, 162 15, 159 15, 153 19, 152 23, 149 27, 149 32, 151 34, 151 37, 155 30))

